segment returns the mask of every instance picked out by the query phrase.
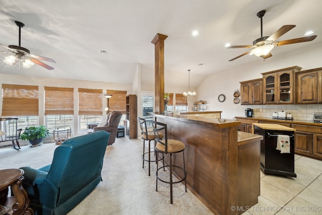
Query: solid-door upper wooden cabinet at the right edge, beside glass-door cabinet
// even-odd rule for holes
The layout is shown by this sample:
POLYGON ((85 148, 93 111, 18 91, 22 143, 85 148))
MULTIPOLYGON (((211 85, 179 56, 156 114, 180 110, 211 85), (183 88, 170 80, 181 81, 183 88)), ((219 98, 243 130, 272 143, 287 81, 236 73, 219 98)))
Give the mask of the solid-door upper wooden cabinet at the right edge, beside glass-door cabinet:
POLYGON ((296 104, 322 102, 322 68, 295 73, 296 104))

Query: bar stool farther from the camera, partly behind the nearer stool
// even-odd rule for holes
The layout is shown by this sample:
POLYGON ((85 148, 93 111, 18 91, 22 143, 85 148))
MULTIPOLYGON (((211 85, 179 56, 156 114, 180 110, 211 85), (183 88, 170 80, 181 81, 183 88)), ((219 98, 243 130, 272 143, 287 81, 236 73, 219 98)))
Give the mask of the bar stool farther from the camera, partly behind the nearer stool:
MULTIPOLYGON (((154 141, 154 132, 153 131, 147 131, 147 127, 146 127, 146 119, 141 118, 141 117, 137 117, 138 121, 139 121, 139 125, 141 128, 141 138, 143 139, 143 155, 142 155, 142 160, 143 160, 143 167, 144 168, 144 161, 148 162, 148 166, 149 166, 149 176, 150 176, 150 163, 151 162, 158 162, 160 160, 163 160, 164 156, 160 159, 156 159, 158 157, 155 157, 155 160, 151 160, 151 153, 153 153, 155 155, 155 151, 154 151, 154 147, 153 147, 153 151, 151 152, 150 149, 150 142, 151 140, 154 141), (149 151, 145 152, 145 140, 149 141, 149 151), (145 155, 148 154, 148 159, 145 159, 145 155)), ((163 135, 160 135, 160 138, 163 138, 163 135)), ((155 145, 155 142, 154 142, 155 145)))

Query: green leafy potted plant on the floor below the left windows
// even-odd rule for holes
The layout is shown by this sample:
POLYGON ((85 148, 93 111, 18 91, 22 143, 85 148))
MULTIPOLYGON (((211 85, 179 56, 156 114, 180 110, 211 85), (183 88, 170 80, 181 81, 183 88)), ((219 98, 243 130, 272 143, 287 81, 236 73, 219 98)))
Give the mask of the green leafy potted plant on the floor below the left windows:
POLYGON ((29 140, 31 145, 39 144, 43 137, 49 136, 49 130, 44 126, 26 127, 25 131, 20 135, 22 140, 29 140))

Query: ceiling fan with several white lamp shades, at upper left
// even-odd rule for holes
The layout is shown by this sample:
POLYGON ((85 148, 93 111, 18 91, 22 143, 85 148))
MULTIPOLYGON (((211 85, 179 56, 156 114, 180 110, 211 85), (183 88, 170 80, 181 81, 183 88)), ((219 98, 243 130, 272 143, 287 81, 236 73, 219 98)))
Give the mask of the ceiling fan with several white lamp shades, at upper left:
POLYGON ((55 63, 55 60, 47 57, 42 57, 34 54, 30 54, 30 51, 27 48, 21 47, 21 28, 25 26, 25 24, 15 21, 16 25, 19 27, 19 46, 17 45, 9 45, 8 47, 0 44, 0 46, 5 47, 11 52, 8 51, 0 51, 0 52, 5 52, 5 53, 11 53, 12 55, 7 56, 6 59, 4 60, 7 64, 13 65, 16 62, 22 62, 24 68, 30 68, 32 65, 35 63, 47 68, 49 70, 54 69, 50 65, 47 65, 46 63, 41 62, 40 60, 46 60, 49 62, 55 63))

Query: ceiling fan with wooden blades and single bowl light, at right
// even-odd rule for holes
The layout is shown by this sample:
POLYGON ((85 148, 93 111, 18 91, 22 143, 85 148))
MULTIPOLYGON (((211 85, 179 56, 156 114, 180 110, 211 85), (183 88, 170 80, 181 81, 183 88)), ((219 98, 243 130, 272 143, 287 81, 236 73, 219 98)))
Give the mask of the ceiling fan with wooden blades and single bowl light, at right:
POLYGON ((284 25, 280 29, 278 29, 274 34, 271 36, 263 37, 263 16, 265 15, 266 11, 260 11, 257 13, 258 18, 261 18, 261 37, 253 41, 253 45, 233 45, 228 46, 227 48, 251 48, 252 50, 245 52, 244 54, 240 54, 239 56, 230 59, 229 61, 235 60, 241 56, 246 54, 252 53, 258 57, 262 57, 263 59, 269 58, 272 56, 270 52, 275 46, 280 45, 288 45, 293 43, 300 43, 300 42, 308 42, 315 39, 316 35, 308 36, 308 37, 300 37, 295 39, 283 40, 275 42, 279 37, 283 34, 290 31, 295 25, 284 25))

